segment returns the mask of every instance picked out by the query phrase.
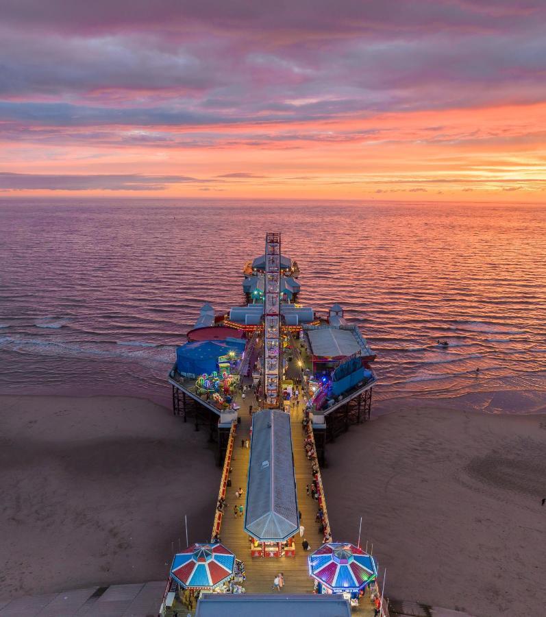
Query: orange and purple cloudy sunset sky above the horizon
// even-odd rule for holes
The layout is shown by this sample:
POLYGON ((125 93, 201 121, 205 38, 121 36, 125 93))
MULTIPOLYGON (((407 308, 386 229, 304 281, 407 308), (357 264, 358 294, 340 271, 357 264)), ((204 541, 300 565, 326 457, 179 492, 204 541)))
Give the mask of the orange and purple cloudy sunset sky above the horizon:
POLYGON ((545 0, 0 0, 0 196, 546 202, 545 0))

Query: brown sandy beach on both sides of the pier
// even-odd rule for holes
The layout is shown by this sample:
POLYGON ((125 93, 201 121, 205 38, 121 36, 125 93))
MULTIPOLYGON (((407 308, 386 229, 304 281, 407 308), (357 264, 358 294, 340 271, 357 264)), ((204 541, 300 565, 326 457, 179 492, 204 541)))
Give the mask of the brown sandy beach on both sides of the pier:
MULTIPOLYGON (((546 417, 399 411, 330 444, 334 540, 373 542, 386 594, 476 617, 541 615, 546 417)), ((168 409, 122 397, 0 397, 0 598, 161 580, 210 533, 220 470, 168 409)))

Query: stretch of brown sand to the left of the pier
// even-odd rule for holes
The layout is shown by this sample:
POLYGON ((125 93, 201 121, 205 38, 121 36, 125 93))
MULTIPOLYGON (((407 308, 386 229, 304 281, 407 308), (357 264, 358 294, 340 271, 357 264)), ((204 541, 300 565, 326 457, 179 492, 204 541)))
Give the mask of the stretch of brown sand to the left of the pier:
POLYGON ((166 580, 220 474, 206 431, 148 400, 0 397, 0 598, 166 580))

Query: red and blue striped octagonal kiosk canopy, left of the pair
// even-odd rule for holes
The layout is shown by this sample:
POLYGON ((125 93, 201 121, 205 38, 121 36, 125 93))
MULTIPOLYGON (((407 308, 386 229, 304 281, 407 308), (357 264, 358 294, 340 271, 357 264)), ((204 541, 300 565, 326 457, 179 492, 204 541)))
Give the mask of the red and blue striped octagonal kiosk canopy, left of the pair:
POLYGON ((235 555, 223 544, 192 544, 177 553, 171 577, 184 588, 212 588, 233 574, 235 555))

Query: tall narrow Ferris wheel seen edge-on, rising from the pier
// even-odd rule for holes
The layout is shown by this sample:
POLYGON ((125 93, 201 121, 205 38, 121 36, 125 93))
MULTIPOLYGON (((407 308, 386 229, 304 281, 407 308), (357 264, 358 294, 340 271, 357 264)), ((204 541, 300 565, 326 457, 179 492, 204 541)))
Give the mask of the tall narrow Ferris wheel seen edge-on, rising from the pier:
POLYGON ((280 407, 281 234, 265 236, 264 390, 265 406, 280 407))

